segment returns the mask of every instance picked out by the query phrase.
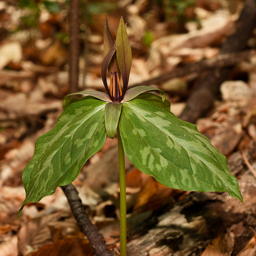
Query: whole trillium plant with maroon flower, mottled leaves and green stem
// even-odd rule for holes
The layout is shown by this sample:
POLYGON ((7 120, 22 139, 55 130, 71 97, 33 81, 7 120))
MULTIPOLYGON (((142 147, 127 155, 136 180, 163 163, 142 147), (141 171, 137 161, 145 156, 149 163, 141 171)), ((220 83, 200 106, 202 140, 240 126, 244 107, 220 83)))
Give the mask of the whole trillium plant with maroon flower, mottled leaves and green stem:
POLYGON ((198 132, 194 124, 170 112, 162 90, 138 86, 127 90, 132 51, 121 17, 116 41, 103 28, 101 75, 107 94, 83 91, 83 98, 63 100, 56 125, 36 141, 34 156, 23 171, 24 205, 51 195, 73 182, 83 164, 117 131, 120 170, 120 252, 126 254, 126 195, 124 152, 140 171, 170 188, 186 191, 226 191, 243 201, 226 157, 198 132), (107 72, 108 70, 108 72, 107 72), (110 76, 110 89, 107 83, 110 76), (123 88, 120 79, 123 81, 123 88), (148 91, 157 90, 161 96, 148 91))

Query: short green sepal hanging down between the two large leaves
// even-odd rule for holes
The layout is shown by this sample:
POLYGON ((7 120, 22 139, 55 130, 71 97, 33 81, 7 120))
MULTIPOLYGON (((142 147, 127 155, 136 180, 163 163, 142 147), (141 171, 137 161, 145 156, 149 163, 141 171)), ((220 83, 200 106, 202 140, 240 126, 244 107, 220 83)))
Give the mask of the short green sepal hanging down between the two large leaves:
POLYGON ((112 101, 105 106, 105 127, 107 135, 110 139, 114 139, 116 127, 122 110, 122 103, 112 101))

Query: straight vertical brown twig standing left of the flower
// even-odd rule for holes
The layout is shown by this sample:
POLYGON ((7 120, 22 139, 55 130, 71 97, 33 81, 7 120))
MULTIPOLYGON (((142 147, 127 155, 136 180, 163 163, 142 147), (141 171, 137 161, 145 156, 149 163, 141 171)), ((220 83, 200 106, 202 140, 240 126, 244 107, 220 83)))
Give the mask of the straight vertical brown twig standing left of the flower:
POLYGON ((70 0, 69 8, 69 93, 74 93, 78 92, 80 0, 70 0))

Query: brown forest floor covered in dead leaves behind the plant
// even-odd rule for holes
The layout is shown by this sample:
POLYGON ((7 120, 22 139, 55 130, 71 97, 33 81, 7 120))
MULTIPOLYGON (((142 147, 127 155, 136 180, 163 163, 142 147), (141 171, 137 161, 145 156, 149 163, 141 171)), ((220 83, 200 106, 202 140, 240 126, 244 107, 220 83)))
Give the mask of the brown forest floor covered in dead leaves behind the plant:
MULTIPOLYGON (((60 188, 38 203, 27 204, 18 221, 25 199, 22 171, 33 156, 37 138, 56 123, 68 94, 68 12, 64 1, 59 2, 55 8, 60 10, 52 13, 40 1, 29 8, 12 0, 0 1, 1 256, 93 255, 60 188)), ((147 0, 128 2, 121 0, 108 11, 108 24, 115 37, 121 15, 128 23, 133 54, 129 86, 175 73, 191 63, 215 60, 243 8, 243 1, 238 0, 232 8, 229 1, 196 1, 196 6, 184 9, 185 14, 176 12, 176 20, 168 20, 163 6, 147 0)), ((79 86, 80 91, 104 91, 100 72, 106 13, 93 13, 95 6, 89 7, 90 19, 81 25, 79 86)), ((199 132, 227 157, 244 203, 227 193, 164 187, 126 159, 128 256, 256 255, 255 35, 254 31, 248 41, 249 54, 232 65, 212 108, 196 121, 199 132)), ((150 84, 166 92, 176 116, 181 115, 200 77, 207 75, 198 67, 150 84)), ((92 223, 116 252, 117 154, 116 137, 107 138, 73 182, 92 223)))

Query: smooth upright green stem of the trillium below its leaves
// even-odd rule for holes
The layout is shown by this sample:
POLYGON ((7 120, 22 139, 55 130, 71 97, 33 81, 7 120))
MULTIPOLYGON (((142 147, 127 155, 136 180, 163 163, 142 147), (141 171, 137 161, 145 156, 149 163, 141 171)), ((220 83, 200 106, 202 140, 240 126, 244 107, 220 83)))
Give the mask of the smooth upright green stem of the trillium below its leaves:
POLYGON ((119 157, 119 180, 120 180, 120 255, 126 256, 126 184, 124 147, 117 125, 118 157, 119 157))

